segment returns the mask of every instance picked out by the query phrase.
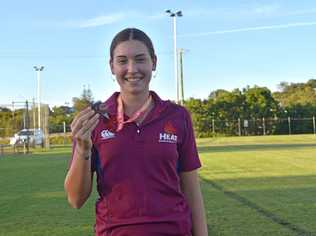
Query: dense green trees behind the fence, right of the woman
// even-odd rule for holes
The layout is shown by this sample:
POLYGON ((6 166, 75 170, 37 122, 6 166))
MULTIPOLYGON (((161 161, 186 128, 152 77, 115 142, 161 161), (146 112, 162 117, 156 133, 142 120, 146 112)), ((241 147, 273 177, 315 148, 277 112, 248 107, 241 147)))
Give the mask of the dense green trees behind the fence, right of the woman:
POLYGON ((272 93, 259 86, 219 89, 207 99, 190 98, 184 105, 191 112, 198 137, 238 135, 241 128, 245 135, 286 134, 289 128, 291 133, 311 133, 316 115, 316 80, 282 82, 278 90, 272 93))

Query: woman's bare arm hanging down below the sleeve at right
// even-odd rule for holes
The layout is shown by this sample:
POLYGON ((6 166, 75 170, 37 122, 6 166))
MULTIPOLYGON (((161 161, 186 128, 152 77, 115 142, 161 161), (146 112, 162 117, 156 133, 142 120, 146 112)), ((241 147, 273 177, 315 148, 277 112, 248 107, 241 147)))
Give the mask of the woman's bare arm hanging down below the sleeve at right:
POLYGON ((207 236, 203 197, 197 170, 180 172, 181 189, 192 209, 193 236, 207 236))

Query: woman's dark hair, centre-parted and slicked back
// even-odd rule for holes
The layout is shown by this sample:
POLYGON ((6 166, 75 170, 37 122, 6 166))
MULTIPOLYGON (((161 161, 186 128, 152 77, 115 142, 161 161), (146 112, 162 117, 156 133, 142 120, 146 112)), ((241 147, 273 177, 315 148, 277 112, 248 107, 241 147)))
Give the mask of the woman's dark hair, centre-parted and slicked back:
POLYGON ((153 43, 151 42, 151 39, 143 31, 136 28, 126 28, 115 35, 110 47, 111 60, 113 60, 113 52, 116 46, 128 40, 138 40, 142 42, 143 44, 145 44, 145 46, 147 47, 149 51, 151 59, 154 61, 156 56, 155 56, 155 49, 154 49, 153 43))

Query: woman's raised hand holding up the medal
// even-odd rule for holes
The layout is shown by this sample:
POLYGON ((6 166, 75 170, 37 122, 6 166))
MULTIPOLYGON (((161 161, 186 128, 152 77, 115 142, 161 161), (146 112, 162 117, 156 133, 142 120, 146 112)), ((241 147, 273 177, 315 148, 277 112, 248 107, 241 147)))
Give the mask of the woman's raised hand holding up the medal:
POLYGON ((91 133, 99 122, 99 114, 87 107, 75 116, 71 123, 71 135, 76 141, 76 151, 88 156, 92 148, 91 133))

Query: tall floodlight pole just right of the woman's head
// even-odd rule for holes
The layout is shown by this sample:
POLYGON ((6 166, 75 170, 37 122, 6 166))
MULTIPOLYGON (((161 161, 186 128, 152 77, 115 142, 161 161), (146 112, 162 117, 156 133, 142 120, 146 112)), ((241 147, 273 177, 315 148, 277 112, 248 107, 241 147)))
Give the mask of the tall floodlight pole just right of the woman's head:
POLYGON ((174 47, 174 77, 176 81, 176 90, 177 90, 177 97, 176 103, 179 103, 179 79, 178 79, 178 55, 177 55, 177 24, 176 24, 176 17, 181 17, 182 12, 172 12, 171 10, 166 10, 166 13, 169 14, 170 17, 173 18, 173 47, 174 47))

